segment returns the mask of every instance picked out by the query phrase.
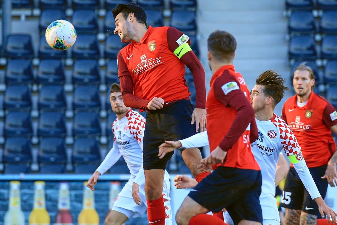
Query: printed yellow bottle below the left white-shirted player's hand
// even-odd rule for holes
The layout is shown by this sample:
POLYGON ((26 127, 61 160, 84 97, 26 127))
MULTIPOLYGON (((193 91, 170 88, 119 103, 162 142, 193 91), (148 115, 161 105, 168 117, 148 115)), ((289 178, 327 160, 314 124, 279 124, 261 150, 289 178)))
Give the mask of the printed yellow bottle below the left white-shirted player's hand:
POLYGON ((95 210, 94 192, 86 185, 87 181, 84 182, 83 207, 77 220, 79 225, 98 225, 99 217, 95 210))

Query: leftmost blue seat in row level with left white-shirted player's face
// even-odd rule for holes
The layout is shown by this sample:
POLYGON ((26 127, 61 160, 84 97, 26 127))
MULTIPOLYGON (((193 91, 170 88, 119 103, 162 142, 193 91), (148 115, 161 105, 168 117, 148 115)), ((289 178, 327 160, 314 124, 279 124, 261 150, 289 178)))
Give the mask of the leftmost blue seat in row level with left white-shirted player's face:
POLYGON ((32 109, 31 91, 28 86, 7 86, 4 103, 4 110, 30 111, 32 109))

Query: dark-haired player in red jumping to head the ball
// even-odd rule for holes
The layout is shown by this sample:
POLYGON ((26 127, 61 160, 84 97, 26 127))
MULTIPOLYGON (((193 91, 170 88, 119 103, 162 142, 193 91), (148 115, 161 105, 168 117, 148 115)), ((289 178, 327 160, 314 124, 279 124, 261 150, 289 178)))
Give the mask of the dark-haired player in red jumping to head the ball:
MULTIPOLYGON (((148 219, 164 224, 162 197, 164 169, 171 154, 157 157, 158 146, 167 139, 179 140, 206 128, 205 72, 190 47, 189 37, 173 27, 147 27, 146 14, 133 3, 113 9, 122 42, 131 42, 118 53, 118 77, 126 106, 147 110, 143 143, 143 166, 148 219), (196 89, 196 106, 189 99, 184 80, 185 65, 191 70, 196 89), (195 123, 195 124, 194 124, 195 123)), ((198 149, 182 151, 193 176, 207 175, 197 168, 202 159, 198 149)))

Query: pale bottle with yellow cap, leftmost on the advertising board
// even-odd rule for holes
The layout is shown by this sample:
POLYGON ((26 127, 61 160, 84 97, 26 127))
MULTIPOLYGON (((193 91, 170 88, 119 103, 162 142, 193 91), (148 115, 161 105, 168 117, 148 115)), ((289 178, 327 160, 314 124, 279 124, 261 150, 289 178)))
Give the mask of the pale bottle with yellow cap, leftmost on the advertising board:
POLYGON ((21 210, 20 182, 9 182, 9 206, 5 214, 5 225, 24 225, 25 216, 21 210))

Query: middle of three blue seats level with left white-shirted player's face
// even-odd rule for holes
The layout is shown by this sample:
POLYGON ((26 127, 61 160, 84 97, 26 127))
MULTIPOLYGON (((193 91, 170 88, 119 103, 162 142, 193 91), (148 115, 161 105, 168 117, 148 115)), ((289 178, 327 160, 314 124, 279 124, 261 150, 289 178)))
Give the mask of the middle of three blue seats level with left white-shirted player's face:
POLYGON ((63 86, 43 86, 39 92, 38 108, 43 111, 64 111, 67 103, 63 86))

